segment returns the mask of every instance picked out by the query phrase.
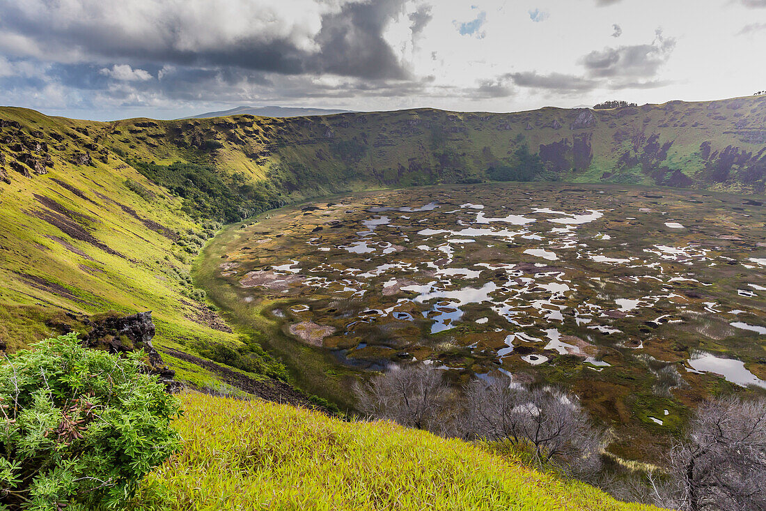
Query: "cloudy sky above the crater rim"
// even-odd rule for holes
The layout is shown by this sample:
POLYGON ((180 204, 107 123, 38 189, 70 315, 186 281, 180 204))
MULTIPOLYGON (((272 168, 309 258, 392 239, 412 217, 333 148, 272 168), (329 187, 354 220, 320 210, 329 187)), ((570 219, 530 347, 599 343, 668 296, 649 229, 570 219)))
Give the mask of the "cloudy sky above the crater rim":
POLYGON ((766 0, 0 0, 0 104, 508 112, 766 90, 766 0))

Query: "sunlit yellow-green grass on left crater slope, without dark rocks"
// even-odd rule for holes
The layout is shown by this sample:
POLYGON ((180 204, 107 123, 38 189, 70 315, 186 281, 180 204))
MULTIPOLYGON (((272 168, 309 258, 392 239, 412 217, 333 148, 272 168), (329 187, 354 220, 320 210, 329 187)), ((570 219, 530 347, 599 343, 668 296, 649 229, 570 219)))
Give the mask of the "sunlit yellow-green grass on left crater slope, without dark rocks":
MULTIPOLYGON (((98 137, 101 128, 24 109, 5 108, 0 117, 18 121, 25 132, 73 134, 88 143, 98 137), (87 128, 91 136, 74 132, 74 128, 87 128)), ((61 311, 90 314, 114 309, 125 313, 152 310, 158 330, 155 344, 160 351, 171 347, 193 353, 196 344, 240 344, 237 335, 194 320, 203 306, 182 295, 188 285, 172 271, 175 267, 188 272, 191 256, 174 249, 169 237, 122 207, 170 232, 198 230, 197 223, 178 211, 178 198, 113 154, 108 163, 94 160, 94 166, 74 165, 69 160, 77 143, 67 144, 65 150, 51 151, 54 168, 49 173, 27 179, 10 171, 11 183, 0 183, 0 341, 13 350, 51 335, 53 329, 45 321, 61 311), (126 187, 126 179, 146 187, 154 198, 147 200, 133 193, 126 187), (45 199, 36 196, 52 199, 59 206, 45 205, 45 199), (47 219, 40 218, 41 213, 47 219), (51 218, 81 226, 80 234, 90 234, 94 241, 66 234, 51 218)), ((183 379, 199 385, 214 383, 214 375, 204 369, 170 362, 183 379)))

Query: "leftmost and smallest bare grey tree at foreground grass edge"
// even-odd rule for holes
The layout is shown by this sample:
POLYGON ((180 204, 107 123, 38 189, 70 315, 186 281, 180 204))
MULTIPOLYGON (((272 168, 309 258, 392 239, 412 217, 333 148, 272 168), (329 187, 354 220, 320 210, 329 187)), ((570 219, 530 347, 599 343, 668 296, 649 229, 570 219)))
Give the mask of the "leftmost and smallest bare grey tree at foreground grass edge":
POLYGON ((402 426, 440 432, 440 412, 450 394, 443 375, 444 371, 425 364, 394 365, 367 384, 355 384, 358 410, 402 426))

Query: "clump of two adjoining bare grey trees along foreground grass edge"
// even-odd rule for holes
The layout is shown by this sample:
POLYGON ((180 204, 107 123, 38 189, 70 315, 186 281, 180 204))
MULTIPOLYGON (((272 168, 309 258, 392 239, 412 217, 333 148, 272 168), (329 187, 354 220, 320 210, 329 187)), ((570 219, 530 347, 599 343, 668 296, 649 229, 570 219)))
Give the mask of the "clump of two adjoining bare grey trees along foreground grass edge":
POLYGON ((424 364, 392 366, 355 387, 359 410, 443 437, 509 443, 535 466, 583 480, 601 469, 604 434, 577 397, 504 375, 454 391, 443 374, 424 364))

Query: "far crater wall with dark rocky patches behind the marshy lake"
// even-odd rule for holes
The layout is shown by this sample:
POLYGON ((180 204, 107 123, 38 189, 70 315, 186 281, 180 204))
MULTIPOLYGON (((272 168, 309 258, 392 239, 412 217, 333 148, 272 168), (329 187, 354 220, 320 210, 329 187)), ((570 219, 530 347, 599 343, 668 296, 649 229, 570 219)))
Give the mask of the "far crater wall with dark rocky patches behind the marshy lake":
POLYGON ((403 110, 328 117, 111 124, 104 143, 165 162, 204 160, 285 193, 341 183, 460 183, 491 168, 542 167, 526 179, 766 190, 766 97, 516 114, 403 110))

